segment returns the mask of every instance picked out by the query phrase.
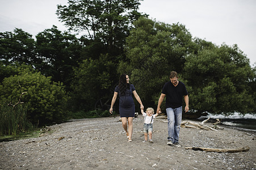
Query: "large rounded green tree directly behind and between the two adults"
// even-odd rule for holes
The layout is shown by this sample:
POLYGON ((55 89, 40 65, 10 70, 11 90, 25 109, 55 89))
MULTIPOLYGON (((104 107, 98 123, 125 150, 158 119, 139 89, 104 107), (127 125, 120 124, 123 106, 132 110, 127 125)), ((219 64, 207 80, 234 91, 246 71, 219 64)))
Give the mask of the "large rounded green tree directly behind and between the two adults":
POLYGON ((140 18, 134 24, 127 37, 127 59, 120 62, 118 73, 128 73, 144 105, 153 105, 170 71, 182 71, 194 43, 179 23, 169 25, 140 18))

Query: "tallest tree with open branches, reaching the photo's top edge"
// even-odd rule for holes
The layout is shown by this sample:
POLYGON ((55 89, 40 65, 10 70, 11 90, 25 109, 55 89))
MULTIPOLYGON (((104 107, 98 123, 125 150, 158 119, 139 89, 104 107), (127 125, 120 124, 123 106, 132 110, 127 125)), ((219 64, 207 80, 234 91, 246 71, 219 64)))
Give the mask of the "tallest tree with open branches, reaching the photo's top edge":
POLYGON ((101 43, 109 57, 119 56, 132 22, 141 16, 139 1, 69 0, 68 6, 57 6, 56 14, 70 30, 85 31, 89 40, 101 43))

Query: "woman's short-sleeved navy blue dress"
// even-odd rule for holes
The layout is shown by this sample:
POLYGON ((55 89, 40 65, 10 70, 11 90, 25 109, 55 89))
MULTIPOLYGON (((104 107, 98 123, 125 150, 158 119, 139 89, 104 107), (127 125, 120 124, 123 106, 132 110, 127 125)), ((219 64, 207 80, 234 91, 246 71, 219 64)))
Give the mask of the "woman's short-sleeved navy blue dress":
POLYGON ((115 88, 115 92, 119 94, 119 113, 120 117, 134 117, 135 104, 132 98, 132 92, 135 91, 133 84, 130 84, 130 88, 125 91, 125 95, 120 95, 118 86, 115 88))

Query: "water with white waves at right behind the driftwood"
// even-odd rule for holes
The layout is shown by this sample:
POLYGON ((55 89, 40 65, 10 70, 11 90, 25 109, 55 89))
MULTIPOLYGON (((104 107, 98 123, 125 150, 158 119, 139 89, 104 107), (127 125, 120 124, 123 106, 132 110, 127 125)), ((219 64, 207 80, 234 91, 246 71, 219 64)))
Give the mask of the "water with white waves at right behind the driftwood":
POLYGON ((212 115, 210 113, 207 116, 201 116, 198 119, 203 121, 210 117, 211 122, 216 122, 216 118, 221 119, 221 124, 225 126, 229 126, 234 129, 242 130, 242 131, 250 131, 256 133, 256 115, 253 114, 245 114, 241 116, 238 113, 234 113, 230 116, 223 115, 212 115))

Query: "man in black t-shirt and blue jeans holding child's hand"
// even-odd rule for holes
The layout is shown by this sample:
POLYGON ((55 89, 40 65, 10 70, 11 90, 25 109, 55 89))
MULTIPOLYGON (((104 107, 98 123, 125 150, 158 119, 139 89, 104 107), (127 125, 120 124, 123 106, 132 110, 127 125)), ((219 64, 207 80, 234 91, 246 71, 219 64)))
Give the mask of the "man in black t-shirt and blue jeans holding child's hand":
POLYGON ((168 119, 168 142, 167 145, 179 145, 179 130, 182 121, 182 97, 186 104, 185 112, 188 112, 188 93, 184 83, 179 82, 175 71, 170 73, 170 82, 165 83, 162 94, 158 100, 157 113, 161 113, 161 104, 166 96, 166 113, 168 119))

